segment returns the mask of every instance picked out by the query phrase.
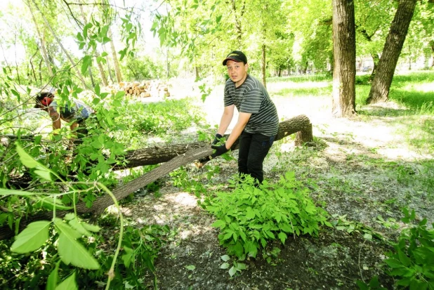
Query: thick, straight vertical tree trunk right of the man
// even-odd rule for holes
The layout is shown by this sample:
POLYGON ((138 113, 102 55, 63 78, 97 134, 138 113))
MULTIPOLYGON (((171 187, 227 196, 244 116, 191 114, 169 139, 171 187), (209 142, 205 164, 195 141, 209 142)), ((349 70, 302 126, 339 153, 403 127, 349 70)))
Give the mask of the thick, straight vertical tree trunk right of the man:
POLYGON ((355 114, 355 20, 353 0, 333 0, 334 117, 355 114))

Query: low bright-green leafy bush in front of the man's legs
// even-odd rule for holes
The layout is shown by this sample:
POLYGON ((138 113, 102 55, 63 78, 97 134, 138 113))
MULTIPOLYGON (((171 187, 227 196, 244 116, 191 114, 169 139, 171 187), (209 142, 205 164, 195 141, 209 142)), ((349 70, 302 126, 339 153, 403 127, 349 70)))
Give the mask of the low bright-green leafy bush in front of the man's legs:
POLYGON ((203 203, 216 216, 212 226, 221 229, 218 239, 230 255, 255 258, 270 239, 277 237, 284 244, 287 234, 317 235, 320 225, 331 226, 328 213, 315 206, 294 172, 287 172, 275 185, 264 182, 259 187, 250 176, 244 178, 241 183, 230 180, 233 192, 218 192, 203 203))

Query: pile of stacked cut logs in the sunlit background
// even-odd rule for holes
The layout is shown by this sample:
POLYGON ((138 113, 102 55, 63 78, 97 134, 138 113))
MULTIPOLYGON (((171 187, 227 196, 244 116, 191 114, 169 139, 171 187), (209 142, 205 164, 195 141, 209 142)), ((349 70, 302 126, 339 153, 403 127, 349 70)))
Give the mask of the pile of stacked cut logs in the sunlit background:
POLYGON ((170 97, 169 86, 160 81, 121 81, 118 89, 124 90, 127 98, 170 97))

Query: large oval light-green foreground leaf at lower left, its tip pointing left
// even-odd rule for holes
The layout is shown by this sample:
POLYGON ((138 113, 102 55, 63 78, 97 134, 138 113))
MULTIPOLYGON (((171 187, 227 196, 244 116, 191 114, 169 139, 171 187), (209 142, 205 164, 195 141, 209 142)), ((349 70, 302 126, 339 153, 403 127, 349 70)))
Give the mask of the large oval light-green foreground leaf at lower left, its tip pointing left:
POLYGON ((48 228, 51 222, 48 220, 39 220, 29 223, 27 227, 20 232, 11 246, 11 251, 15 253, 29 253, 39 249, 48 239, 48 228))

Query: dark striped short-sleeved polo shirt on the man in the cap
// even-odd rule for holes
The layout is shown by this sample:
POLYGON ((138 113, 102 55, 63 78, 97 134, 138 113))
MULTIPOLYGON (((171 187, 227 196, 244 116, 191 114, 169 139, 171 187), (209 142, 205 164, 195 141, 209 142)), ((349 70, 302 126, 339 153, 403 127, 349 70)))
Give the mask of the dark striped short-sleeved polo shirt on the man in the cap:
POLYGON ((267 89, 261 81, 247 74, 244 83, 235 88, 235 83, 228 79, 225 84, 225 107, 235 105, 238 112, 251 113, 244 131, 275 136, 279 128, 279 117, 267 89))

